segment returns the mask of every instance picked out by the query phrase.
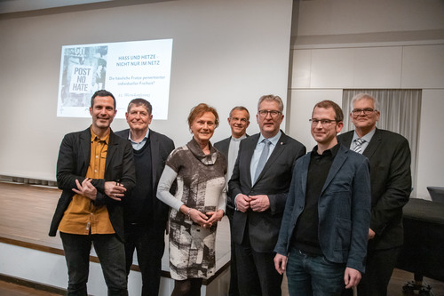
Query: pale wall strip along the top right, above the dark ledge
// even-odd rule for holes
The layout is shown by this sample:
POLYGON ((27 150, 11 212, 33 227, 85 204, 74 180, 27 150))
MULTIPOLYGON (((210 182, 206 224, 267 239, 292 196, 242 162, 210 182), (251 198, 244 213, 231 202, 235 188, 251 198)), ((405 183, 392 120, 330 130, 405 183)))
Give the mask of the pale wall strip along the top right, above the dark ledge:
POLYGON ((300 1, 293 28, 297 36, 442 29, 443 13, 440 0, 300 1))

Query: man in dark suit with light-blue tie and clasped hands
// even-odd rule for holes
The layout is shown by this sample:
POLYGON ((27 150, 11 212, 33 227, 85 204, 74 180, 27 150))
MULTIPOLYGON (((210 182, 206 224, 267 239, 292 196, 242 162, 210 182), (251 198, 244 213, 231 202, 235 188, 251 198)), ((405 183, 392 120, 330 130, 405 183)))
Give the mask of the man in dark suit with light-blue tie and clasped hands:
POLYGON ((235 243, 241 295, 281 295, 282 276, 274 269, 274 245, 291 172, 305 146, 280 130, 283 103, 274 95, 258 101, 260 133, 241 141, 228 183, 228 200, 234 204, 235 243))

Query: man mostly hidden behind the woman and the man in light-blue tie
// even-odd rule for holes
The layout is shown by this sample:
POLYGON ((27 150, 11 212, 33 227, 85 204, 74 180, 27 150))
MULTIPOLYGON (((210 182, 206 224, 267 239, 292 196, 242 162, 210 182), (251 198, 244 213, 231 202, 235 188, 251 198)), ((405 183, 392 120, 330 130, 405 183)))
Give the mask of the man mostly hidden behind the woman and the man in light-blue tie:
MULTIPOLYGON (((228 170, 226 172, 226 180, 230 180, 233 174, 234 164, 237 158, 237 152, 239 151, 239 145, 241 140, 248 137, 247 127, 250 125, 250 112, 243 106, 237 106, 231 109, 230 116, 228 117, 228 124, 231 128, 231 137, 225 140, 220 140, 214 143, 214 147, 222 152, 228 160, 228 170)), ((233 234, 233 215, 234 204, 226 204, 226 217, 230 222, 231 234, 233 234)), ((229 296, 239 295, 239 289, 237 287, 237 265, 236 265, 236 252, 234 248, 233 237, 231 239, 231 260, 230 260, 230 289, 228 291, 229 296)))

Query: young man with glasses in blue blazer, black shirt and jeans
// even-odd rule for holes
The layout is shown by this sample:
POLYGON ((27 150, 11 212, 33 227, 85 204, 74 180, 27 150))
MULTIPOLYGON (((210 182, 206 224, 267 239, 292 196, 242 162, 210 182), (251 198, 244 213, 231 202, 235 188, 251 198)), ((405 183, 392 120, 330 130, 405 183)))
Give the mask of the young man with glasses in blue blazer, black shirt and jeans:
POLYGON ((274 248, 289 294, 341 295, 364 272, 370 219, 369 161, 337 143, 341 108, 323 100, 313 108, 317 145, 297 160, 274 248))

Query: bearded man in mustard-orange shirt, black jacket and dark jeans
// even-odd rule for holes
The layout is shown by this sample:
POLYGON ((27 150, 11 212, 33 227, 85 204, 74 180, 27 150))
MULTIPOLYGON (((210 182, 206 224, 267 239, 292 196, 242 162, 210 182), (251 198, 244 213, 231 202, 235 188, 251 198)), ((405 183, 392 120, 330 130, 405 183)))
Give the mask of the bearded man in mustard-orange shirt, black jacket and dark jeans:
POLYGON ((123 207, 135 185, 131 144, 115 136, 111 92, 92 95, 91 127, 61 142, 57 184, 63 190, 50 236, 59 229, 68 271, 68 295, 87 295, 91 244, 99 257, 109 295, 127 295, 123 207))

